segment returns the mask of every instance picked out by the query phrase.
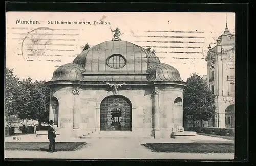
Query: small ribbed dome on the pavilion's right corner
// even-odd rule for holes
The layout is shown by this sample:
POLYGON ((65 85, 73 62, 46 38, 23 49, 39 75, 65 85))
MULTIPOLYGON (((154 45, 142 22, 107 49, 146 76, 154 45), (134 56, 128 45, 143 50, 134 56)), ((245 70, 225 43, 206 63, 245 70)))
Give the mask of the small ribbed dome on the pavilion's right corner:
POLYGON ((178 81, 183 82, 180 73, 173 66, 165 63, 155 64, 146 70, 148 81, 178 81))

